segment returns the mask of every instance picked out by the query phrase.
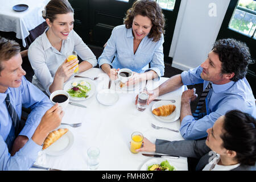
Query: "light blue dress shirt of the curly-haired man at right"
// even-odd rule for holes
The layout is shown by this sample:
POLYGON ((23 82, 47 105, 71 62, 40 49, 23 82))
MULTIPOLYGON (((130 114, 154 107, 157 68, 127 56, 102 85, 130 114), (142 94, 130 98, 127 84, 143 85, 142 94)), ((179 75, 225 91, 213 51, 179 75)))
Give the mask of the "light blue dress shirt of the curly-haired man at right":
MULTIPOLYGON (((203 68, 197 67, 181 73, 184 85, 204 83, 204 88, 209 81, 201 78, 203 68)), ((200 97, 200 96, 199 96, 200 97)), ((180 134, 184 139, 195 140, 207 137, 207 129, 213 126, 214 122, 229 110, 237 109, 251 114, 256 118, 256 107, 253 92, 246 78, 236 82, 230 81, 227 84, 212 84, 207 98, 205 98, 207 115, 195 120, 192 115, 183 118, 180 126, 180 134)))

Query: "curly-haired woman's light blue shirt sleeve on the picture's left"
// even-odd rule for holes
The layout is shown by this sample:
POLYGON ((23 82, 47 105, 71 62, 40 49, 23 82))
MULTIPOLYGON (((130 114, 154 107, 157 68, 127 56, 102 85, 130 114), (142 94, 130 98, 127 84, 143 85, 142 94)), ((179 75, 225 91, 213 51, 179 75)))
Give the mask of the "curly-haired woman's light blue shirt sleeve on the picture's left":
POLYGON ((117 37, 117 35, 115 35, 116 34, 115 30, 116 28, 113 28, 112 34, 108 42, 106 43, 106 47, 104 48, 104 51, 102 52, 101 56, 98 57, 99 67, 101 67, 102 64, 109 64, 110 67, 112 67, 112 60, 115 56, 115 52, 117 51, 117 48, 115 47, 116 45, 115 38, 117 37))

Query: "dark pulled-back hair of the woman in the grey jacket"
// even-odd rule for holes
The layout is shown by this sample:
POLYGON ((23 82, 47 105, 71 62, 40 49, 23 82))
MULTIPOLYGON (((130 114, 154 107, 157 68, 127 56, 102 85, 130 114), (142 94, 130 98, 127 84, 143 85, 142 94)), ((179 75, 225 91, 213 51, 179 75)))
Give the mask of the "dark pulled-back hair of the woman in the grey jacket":
POLYGON ((256 162, 255 125, 255 118, 240 110, 228 111, 224 116, 223 147, 236 151, 236 159, 244 165, 254 166, 256 162))

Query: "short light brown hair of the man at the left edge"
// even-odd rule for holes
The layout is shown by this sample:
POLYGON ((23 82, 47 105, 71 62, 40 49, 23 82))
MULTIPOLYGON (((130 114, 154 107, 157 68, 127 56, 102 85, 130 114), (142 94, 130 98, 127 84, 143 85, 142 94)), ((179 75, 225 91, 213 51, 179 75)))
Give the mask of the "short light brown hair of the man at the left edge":
POLYGON ((2 61, 8 61, 20 52, 20 46, 14 40, 8 40, 0 36, 0 73, 4 69, 2 61))

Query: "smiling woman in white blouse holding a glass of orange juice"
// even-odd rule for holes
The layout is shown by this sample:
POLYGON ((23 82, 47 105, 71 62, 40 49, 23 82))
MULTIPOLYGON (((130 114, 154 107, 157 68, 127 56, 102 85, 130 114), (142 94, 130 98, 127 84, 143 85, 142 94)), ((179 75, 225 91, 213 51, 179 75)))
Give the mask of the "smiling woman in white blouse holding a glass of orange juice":
POLYGON ((79 61, 67 62, 67 53, 76 51, 82 61, 79 72, 97 65, 96 56, 73 30, 74 14, 67 0, 51 0, 43 11, 48 27, 28 48, 28 59, 35 72, 32 84, 51 94, 63 89, 79 61))

